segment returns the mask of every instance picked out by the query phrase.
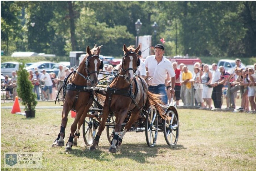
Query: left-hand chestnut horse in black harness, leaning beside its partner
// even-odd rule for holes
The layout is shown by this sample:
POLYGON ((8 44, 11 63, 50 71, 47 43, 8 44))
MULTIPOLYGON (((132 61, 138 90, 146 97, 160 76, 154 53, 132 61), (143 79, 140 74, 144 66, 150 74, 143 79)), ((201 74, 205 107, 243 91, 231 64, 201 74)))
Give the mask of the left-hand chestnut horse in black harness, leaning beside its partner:
POLYGON ((78 68, 69 74, 69 76, 64 80, 63 94, 65 98, 62 109, 60 132, 52 144, 52 147, 64 146, 65 129, 70 110, 76 112, 76 117, 70 129, 71 133, 69 136, 69 141, 66 144, 66 150, 70 150, 72 148, 73 138, 75 138, 74 145, 77 145, 79 129, 87 115, 87 111, 93 103, 93 90, 87 88, 96 86, 99 83, 99 69, 103 68, 103 62, 100 60, 99 54, 99 47, 96 48, 95 45, 95 47, 90 50, 88 46, 87 54, 83 61, 80 63, 78 68))

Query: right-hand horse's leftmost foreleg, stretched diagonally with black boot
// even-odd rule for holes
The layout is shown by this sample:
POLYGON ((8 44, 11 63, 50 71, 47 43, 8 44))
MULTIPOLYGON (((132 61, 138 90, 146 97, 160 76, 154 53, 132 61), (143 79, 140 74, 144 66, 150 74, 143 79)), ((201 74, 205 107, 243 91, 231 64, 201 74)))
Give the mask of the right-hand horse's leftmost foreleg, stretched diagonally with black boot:
MULTIPOLYGON (((106 105, 106 103, 105 103, 105 105, 106 105)), ((104 131, 104 129, 105 129, 105 124, 106 124, 106 121, 108 119, 108 113, 109 113, 108 106, 105 106, 105 105, 104 105, 103 111, 102 111, 102 120, 99 124, 99 130, 98 130, 98 132, 97 132, 97 134, 96 134, 96 136, 93 140, 93 144, 90 146, 90 151, 96 149, 96 145, 99 144, 100 135, 101 135, 102 131, 104 131)))

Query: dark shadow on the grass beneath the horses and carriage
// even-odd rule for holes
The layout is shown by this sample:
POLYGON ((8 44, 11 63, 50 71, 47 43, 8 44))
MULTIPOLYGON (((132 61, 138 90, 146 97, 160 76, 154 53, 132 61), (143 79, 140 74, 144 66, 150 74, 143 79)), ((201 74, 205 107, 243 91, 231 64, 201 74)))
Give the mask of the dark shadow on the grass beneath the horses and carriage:
POLYGON ((109 146, 98 146, 96 150, 89 151, 89 149, 72 149, 72 151, 68 152, 71 155, 76 157, 86 157, 93 160, 98 161, 111 161, 109 158, 110 155, 113 155, 114 158, 130 158, 139 163, 146 163, 147 158, 154 158, 157 157, 160 151, 165 151, 168 149, 173 150, 180 150, 186 149, 183 145, 177 145, 176 147, 172 148, 169 145, 156 145, 153 148, 150 148, 145 143, 141 144, 122 144, 119 149, 117 149, 116 154, 112 154, 108 152, 109 146), (107 150, 107 151, 106 151, 107 150))

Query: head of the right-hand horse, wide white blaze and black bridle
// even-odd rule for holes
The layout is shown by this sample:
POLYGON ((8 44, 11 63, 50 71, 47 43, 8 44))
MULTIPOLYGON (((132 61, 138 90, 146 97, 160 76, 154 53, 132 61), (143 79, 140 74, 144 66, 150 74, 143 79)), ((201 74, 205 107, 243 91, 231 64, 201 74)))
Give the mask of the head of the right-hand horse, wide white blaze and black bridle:
POLYGON ((125 80, 128 83, 132 83, 134 80, 134 73, 139 67, 140 60, 137 55, 137 52, 140 49, 140 45, 134 49, 133 46, 126 48, 126 45, 123 45, 124 56, 122 59, 122 71, 125 74, 125 80))

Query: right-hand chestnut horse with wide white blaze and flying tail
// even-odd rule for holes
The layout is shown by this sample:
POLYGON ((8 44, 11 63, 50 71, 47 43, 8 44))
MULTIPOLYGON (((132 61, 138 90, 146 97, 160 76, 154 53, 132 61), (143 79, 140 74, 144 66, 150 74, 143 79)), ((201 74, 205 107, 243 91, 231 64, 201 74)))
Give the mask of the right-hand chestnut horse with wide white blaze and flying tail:
MULTIPOLYGON (((146 81, 140 76, 134 76, 140 64, 139 57, 137 55, 140 45, 136 49, 134 49, 133 46, 128 48, 126 48, 126 45, 123 45, 124 56, 122 59, 122 68, 119 77, 114 77, 107 87, 107 95, 102 111, 102 121, 90 150, 96 149, 100 135, 105 129, 105 123, 109 113, 114 112, 116 117, 115 134, 109 148, 109 152, 115 153, 117 147, 121 144, 123 136, 138 119, 142 109, 148 108, 150 105, 154 105, 157 109, 162 110, 158 104, 162 104, 160 95, 148 92, 148 85, 146 81), (124 127, 123 133, 119 137, 121 124, 129 111, 131 111, 132 114, 124 127)), ((163 113, 163 111, 159 112, 163 113)))

